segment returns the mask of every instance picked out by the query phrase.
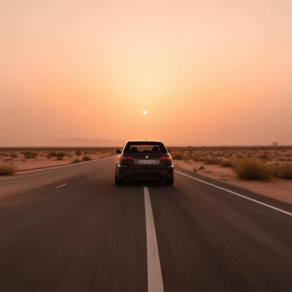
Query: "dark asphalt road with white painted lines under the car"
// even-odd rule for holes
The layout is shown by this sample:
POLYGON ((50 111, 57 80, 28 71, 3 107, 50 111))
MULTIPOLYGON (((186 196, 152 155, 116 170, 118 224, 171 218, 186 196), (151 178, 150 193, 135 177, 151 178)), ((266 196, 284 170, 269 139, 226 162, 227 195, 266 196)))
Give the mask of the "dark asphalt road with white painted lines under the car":
POLYGON ((180 173, 115 186, 114 158, 82 168, 0 212, 0 291, 292 290, 288 206, 180 173))

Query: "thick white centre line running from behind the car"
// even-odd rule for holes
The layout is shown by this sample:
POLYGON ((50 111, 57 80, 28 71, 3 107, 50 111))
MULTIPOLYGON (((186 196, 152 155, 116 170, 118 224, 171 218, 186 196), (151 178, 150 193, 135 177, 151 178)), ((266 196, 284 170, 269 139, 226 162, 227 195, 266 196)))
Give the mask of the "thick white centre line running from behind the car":
POLYGON ((146 238, 147 238, 147 269, 148 292, 163 292, 161 268, 154 226, 154 219, 147 185, 144 185, 146 238))

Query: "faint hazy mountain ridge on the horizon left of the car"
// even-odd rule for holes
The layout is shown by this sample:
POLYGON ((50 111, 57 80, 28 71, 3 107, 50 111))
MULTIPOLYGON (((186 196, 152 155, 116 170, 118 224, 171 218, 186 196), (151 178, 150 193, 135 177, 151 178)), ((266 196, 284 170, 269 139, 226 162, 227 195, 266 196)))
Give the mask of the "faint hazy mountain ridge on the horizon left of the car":
POLYGON ((126 140, 50 137, 27 143, 37 147, 122 147, 126 140))

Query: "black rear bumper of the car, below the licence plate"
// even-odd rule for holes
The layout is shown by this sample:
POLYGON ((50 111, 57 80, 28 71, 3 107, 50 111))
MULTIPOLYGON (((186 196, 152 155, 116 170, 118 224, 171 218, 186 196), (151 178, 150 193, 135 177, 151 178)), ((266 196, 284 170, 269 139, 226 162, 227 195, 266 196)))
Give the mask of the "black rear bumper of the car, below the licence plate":
POLYGON ((118 167, 117 177, 125 180, 168 180, 172 179, 174 167, 118 167))

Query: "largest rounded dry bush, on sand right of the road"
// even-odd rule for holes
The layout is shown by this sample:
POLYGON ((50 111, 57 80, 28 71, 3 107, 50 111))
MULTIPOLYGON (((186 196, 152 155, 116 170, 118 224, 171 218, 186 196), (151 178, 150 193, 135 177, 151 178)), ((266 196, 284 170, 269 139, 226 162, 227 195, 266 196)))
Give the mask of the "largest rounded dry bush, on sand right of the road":
POLYGON ((269 165, 256 158, 237 160, 233 166, 234 173, 244 180, 267 180, 272 175, 269 165))

